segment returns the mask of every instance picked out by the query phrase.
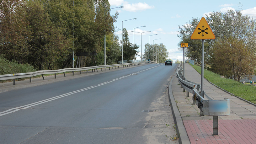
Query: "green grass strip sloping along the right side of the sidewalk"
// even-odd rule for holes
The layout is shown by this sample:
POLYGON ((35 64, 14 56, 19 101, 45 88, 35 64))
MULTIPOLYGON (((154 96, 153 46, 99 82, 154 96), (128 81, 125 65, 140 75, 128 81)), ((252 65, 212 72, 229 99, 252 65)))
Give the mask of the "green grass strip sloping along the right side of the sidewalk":
MULTIPOLYGON (((191 65, 191 64, 190 64, 191 65)), ((191 65, 198 73, 201 74, 201 67, 197 65, 191 65)), ((232 94, 244 98, 247 101, 256 104, 256 86, 242 84, 241 82, 234 81, 232 79, 220 78, 219 74, 215 74, 212 71, 204 69, 204 78, 212 82, 213 84, 221 87, 222 89, 231 92, 232 94)))

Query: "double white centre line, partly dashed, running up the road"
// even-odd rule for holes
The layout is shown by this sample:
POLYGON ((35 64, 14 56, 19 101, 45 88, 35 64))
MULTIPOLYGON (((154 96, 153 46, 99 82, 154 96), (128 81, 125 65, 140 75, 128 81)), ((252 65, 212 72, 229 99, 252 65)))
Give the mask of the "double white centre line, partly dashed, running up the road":
MULTIPOLYGON (((160 66, 160 65, 158 65, 158 66, 160 66)), ((148 68, 148 69, 145 69, 145 70, 153 69, 153 68, 155 68, 155 67, 157 67, 157 66, 154 66, 154 67, 152 67, 152 68, 148 68)), ((143 70, 143 71, 145 71, 145 70, 143 70)), ((142 72, 142 71, 138 71, 137 73, 141 73, 141 72, 142 72)), ((6 115, 6 114, 19 111, 19 110, 21 110, 20 108, 29 108, 29 107, 32 107, 32 106, 37 106, 37 105, 40 105, 40 104, 42 104, 42 103, 46 103, 46 102, 49 102, 49 101, 57 100, 57 99, 62 98, 62 97, 66 97, 66 96, 69 96, 69 95, 76 94, 76 93, 78 93, 78 92, 82 92, 82 91, 86 91, 86 90, 89 90, 89 89, 93 89, 93 88, 95 88, 95 87, 102 86, 102 85, 108 84, 108 83, 110 83, 110 82, 113 82, 113 81, 116 81, 116 80, 119 80, 119 79, 123 79, 123 78, 126 78, 126 77, 128 77, 128 76, 131 76, 131 75, 134 75, 134 74, 137 74, 137 73, 133 73, 133 74, 129 74, 129 75, 126 75, 126 76, 122 76, 122 77, 120 77, 120 78, 113 79, 112 81, 109 81, 109 82, 103 82, 103 83, 101 83, 101 84, 98 84, 97 86, 86 87, 86 88, 84 88, 84 89, 80 89, 80 90, 68 92, 68 93, 66 93, 66 94, 62 94, 62 95, 59 95, 59 96, 55 96, 55 97, 52 97, 52 98, 48 98, 48 99, 46 99, 46 100, 42 100, 42 101, 30 103, 30 104, 28 104, 28 105, 24 105, 24 106, 20 106, 20 107, 11 108, 11 109, 9 109, 9 110, 0 112, 0 116, 4 116, 4 115, 6 115)))

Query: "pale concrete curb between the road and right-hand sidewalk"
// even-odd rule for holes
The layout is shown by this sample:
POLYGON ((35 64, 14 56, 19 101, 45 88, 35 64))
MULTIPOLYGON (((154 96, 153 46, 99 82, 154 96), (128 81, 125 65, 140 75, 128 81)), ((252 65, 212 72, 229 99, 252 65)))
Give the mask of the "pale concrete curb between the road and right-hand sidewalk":
MULTIPOLYGON (((176 70, 175 70, 176 73, 176 70)), ((179 135, 179 143, 180 144, 190 144, 190 140, 187 135, 187 131, 185 129, 185 126, 183 124, 180 111, 178 110, 177 104, 175 102, 174 96, 172 94, 172 81, 173 79, 176 78, 176 74, 172 76, 172 79, 169 84, 169 89, 168 89, 168 96, 169 96, 169 102, 172 110, 172 115, 174 117, 174 122, 176 124, 176 131, 179 135)))

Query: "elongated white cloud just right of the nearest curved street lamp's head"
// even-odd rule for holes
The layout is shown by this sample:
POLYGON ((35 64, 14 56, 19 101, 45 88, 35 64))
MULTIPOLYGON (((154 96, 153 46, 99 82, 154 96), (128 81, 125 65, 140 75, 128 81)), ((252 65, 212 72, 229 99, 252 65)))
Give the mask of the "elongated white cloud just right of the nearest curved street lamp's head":
POLYGON ((131 12, 143 11, 143 10, 146 10, 146 9, 153 9, 154 8, 154 6, 149 6, 145 2, 144 3, 139 2, 137 4, 128 4, 127 3, 127 4, 124 4, 123 6, 124 6, 123 10, 131 11, 131 12))

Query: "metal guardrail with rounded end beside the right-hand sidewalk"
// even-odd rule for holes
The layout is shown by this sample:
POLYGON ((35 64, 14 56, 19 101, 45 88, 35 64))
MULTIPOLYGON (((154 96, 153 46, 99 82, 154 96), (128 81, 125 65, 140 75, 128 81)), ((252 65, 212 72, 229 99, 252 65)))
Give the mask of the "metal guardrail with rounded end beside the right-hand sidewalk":
POLYGON ((183 76, 182 63, 176 71, 176 77, 183 87, 183 91, 187 90, 187 97, 189 97, 189 93, 193 94, 192 104, 196 104, 200 109, 200 116, 213 116, 213 135, 218 135, 218 116, 230 115, 229 99, 213 100, 210 98, 204 91, 201 91, 201 85, 191 82, 183 76))

